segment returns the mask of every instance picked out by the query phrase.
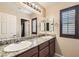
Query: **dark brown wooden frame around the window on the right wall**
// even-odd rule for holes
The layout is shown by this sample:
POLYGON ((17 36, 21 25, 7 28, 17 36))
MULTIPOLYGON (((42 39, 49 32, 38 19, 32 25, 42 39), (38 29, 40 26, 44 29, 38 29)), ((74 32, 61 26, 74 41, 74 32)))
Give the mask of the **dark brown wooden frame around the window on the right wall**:
POLYGON ((60 37, 68 37, 68 38, 78 38, 78 18, 79 18, 79 5, 72 6, 69 8, 65 8, 60 10, 60 37), (62 33, 62 12, 75 9, 75 35, 63 34, 62 33))

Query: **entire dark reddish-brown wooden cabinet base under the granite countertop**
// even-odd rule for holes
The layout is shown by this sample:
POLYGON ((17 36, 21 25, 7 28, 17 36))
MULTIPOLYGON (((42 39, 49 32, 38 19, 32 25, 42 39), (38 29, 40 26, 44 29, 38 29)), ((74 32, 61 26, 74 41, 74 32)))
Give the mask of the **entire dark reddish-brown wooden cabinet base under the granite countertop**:
POLYGON ((15 57, 49 57, 55 53, 55 38, 52 38, 37 47, 31 48, 15 57))

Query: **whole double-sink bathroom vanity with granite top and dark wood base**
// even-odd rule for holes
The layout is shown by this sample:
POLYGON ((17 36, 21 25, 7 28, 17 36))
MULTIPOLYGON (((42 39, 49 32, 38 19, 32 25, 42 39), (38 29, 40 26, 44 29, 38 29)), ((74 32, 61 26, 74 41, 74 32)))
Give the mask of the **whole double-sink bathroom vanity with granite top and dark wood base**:
POLYGON ((52 57, 54 56, 55 53, 55 39, 56 39, 55 35, 36 36, 33 38, 25 38, 24 41, 18 43, 12 43, 15 45, 13 46, 13 48, 12 48, 12 44, 2 45, 0 46, 0 48, 2 49, 2 50, 0 49, 1 51, 0 56, 1 57, 52 57), (27 44, 28 41, 32 43, 30 46, 28 46, 27 44))

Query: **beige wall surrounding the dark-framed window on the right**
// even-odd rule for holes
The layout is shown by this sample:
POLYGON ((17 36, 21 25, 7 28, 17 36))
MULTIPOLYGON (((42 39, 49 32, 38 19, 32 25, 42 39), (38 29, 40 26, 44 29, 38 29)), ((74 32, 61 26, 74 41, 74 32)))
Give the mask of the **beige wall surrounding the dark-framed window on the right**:
POLYGON ((57 36, 56 40, 56 53, 63 56, 79 56, 79 39, 71 39, 60 37, 60 9, 67 8, 79 4, 75 3, 54 3, 51 6, 46 8, 47 18, 54 18, 54 33, 57 36))

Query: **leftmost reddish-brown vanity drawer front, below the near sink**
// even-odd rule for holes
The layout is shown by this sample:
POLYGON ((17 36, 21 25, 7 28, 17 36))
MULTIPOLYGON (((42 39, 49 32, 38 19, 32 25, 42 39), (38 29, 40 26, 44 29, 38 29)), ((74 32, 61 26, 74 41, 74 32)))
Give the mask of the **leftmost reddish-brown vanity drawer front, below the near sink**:
POLYGON ((16 57, 32 57, 36 53, 38 53, 38 47, 34 47, 28 51, 25 51, 25 52, 17 55, 16 57))

